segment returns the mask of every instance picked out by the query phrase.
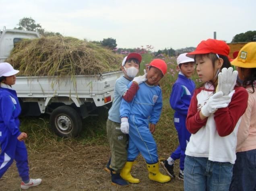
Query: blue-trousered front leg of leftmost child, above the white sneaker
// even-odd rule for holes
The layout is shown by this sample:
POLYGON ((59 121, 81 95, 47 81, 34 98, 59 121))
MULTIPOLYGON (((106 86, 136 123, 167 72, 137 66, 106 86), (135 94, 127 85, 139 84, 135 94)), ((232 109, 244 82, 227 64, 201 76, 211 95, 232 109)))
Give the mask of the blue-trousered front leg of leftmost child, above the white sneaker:
POLYGON ((19 171, 19 175, 23 182, 29 182, 29 165, 28 165, 28 156, 27 156, 27 148, 23 141, 17 142, 17 148, 14 156, 14 160, 16 161, 16 166, 19 171))

